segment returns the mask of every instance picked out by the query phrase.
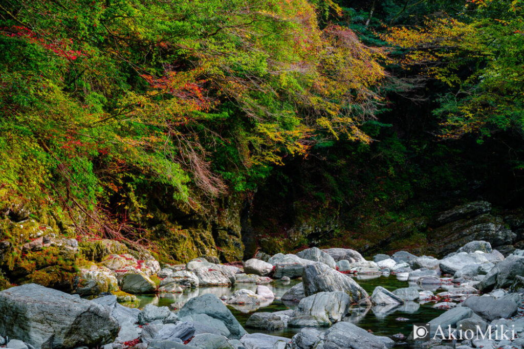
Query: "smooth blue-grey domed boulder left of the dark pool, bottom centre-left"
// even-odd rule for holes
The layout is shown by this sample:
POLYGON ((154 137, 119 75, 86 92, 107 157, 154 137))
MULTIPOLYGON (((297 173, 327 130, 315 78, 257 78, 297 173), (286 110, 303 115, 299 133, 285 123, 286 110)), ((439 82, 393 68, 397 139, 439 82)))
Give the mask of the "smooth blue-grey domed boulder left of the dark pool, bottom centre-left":
POLYGON ((226 308, 224 303, 215 295, 210 293, 199 297, 191 298, 178 312, 180 318, 188 317, 195 314, 206 314, 209 317, 224 323, 227 330, 230 331, 230 338, 240 339, 246 330, 238 323, 234 315, 226 308))

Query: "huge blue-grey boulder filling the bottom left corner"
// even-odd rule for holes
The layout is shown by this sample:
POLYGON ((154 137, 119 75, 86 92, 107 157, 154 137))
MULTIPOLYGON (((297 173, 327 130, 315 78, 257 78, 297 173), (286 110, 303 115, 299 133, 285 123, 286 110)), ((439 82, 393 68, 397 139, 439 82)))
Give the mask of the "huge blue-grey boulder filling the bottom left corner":
POLYGON ((0 333, 35 348, 111 343, 118 322, 100 304, 34 283, 0 292, 0 333))

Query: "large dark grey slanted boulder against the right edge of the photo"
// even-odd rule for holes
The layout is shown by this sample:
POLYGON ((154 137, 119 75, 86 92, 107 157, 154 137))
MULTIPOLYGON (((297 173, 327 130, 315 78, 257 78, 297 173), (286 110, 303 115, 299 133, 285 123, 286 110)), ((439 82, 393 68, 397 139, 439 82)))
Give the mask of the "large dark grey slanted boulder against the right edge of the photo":
POLYGON ((482 292, 509 287, 517 275, 524 276, 524 257, 510 255, 489 270, 476 287, 482 292))

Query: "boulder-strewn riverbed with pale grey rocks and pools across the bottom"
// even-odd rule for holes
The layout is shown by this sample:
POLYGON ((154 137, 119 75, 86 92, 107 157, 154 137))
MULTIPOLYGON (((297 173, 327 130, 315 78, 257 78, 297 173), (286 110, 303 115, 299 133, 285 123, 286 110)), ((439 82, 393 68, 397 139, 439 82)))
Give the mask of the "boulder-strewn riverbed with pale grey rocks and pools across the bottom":
POLYGON ((0 345, 509 349, 524 344, 524 251, 504 256, 484 241, 442 259, 400 251, 366 260, 352 249, 313 247, 296 255, 258 254, 236 265, 203 256, 160 266, 154 259, 114 254, 104 268, 79 282, 92 289, 89 285, 109 280, 122 295, 81 297, 35 283, 0 292, 0 345), (414 323, 430 324, 429 341, 414 341, 414 323), (508 339, 455 341, 443 341, 439 333, 485 331, 490 325, 513 332, 508 339))

